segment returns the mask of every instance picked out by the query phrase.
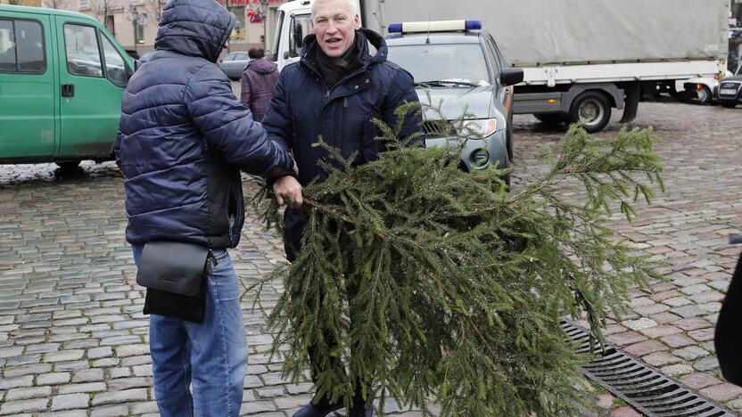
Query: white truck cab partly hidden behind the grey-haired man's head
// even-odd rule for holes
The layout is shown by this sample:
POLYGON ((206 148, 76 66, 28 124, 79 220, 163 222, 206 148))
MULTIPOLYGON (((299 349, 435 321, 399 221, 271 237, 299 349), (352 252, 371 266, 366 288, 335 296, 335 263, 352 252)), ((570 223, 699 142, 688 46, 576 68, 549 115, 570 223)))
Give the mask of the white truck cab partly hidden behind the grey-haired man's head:
MULTIPOLYGON (((268 59, 276 62, 278 70, 299 61, 302 41, 311 29, 312 3, 313 0, 293 1, 278 8, 276 32, 268 51, 268 59)), ((352 3, 360 14, 359 0, 352 3)))

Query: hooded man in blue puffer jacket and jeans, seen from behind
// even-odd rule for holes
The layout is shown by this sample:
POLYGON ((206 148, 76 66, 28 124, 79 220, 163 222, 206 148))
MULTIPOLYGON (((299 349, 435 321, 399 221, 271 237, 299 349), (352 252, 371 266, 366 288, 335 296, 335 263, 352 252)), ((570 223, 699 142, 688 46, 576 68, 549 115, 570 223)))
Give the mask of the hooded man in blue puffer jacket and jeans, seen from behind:
POLYGON ((242 291, 226 248, 237 245, 243 227, 240 170, 271 179, 295 170, 215 65, 234 24, 235 15, 213 0, 170 0, 156 52, 121 102, 115 152, 136 264, 148 241, 191 242, 212 252, 204 322, 150 316, 163 417, 239 414, 247 344, 242 291))

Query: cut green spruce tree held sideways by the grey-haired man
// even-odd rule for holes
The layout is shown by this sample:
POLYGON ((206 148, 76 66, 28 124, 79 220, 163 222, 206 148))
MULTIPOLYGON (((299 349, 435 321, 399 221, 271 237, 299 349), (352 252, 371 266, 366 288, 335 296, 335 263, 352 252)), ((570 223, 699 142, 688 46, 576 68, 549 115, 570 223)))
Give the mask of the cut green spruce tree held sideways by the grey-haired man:
MULTIPOLYGON (((458 168, 466 141, 483 139, 470 115, 447 121, 424 106, 456 137, 423 148, 420 135, 400 137, 410 110, 395 111, 392 127, 374 121, 387 151, 363 165, 317 140, 327 176, 304 188, 302 249, 253 287, 260 298, 284 283, 269 312, 284 375, 314 369, 318 392, 346 405, 359 387, 424 412, 434 399, 451 416, 576 413, 577 366, 589 356, 575 353, 561 317, 585 317, 603 343, 628 288, 659 277, 607 224, 664 190, 657 136, 596 139, 573 126, 543 152, 547 173, 508 193, 507 169, 458 168), (576 201, 562 197, 577 190, 576 201)), ((253 203, 280 230, 271 193, 253 203)))

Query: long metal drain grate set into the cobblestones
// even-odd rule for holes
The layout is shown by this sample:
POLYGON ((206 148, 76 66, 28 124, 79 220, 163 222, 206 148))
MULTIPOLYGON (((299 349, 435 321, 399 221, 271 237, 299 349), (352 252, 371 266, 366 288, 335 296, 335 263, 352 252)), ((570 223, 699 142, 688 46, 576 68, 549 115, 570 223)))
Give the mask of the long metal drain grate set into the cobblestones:
MULTIPOLYGON (((593 338, 588 332, 573 323, 564 322, 562 328, 571 339, 580 343, 579 353, 589 353, 590 339, 593 338)), ((595 344, 595 353, 601 357, 584 365, 581 372, 639 413, 649 417, 737 415, 610 344, 602 348, 595 344)))

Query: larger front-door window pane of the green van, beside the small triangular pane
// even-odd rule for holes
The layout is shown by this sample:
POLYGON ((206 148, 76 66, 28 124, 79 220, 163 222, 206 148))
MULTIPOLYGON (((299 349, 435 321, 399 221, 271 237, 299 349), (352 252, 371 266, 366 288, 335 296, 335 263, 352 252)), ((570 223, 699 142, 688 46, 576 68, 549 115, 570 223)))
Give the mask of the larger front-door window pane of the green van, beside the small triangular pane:
POLYGON ((67 70, 72 75, 103 78, 101 52, 95 28, 67 23, 64 25, 64 49, 67 70))

